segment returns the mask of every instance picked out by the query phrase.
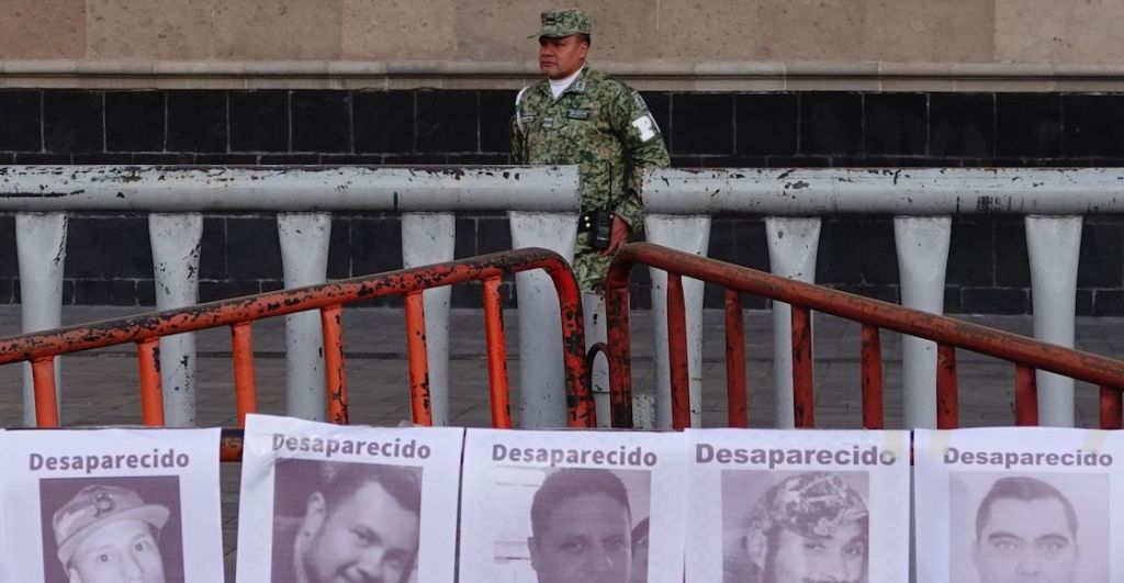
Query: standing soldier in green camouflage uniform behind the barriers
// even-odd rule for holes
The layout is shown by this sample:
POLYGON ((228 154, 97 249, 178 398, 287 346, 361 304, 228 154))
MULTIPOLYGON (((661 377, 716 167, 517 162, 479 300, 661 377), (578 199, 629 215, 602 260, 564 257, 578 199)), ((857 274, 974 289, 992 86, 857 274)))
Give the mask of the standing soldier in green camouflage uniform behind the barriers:
POLYGON ((600 292, 613 255, 643 229, 644 170, 670 161, 640 93, 586 66, 590 29, 581 10, 542 13, 538 66, 546 79, 516 98, 511 149, 519 164, 578 164, 582 219, 574 274, 582 291, 600 292), (589 231, 601 209, 613 212, 611 237, 608 248, 596 249, 589 231))

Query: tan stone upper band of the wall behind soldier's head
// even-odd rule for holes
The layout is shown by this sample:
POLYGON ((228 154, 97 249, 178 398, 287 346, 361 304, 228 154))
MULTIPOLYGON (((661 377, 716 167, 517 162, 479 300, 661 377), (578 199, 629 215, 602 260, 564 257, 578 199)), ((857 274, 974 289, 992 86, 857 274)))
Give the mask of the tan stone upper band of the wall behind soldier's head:
POLYGON ((1115 0, 3 0, 0 57, 520 61, 540 10, 601 58, 1115 63, 1115 0))

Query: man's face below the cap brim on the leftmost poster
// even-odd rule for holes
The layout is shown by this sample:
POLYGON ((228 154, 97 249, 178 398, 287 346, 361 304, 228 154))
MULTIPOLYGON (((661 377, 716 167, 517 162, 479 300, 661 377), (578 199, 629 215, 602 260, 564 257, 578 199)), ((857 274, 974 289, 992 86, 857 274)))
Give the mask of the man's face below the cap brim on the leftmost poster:
POLYGON ((164 583, 164 561, 147 522, 119 520, 79 545, 67 574, 72 583, 164 583))

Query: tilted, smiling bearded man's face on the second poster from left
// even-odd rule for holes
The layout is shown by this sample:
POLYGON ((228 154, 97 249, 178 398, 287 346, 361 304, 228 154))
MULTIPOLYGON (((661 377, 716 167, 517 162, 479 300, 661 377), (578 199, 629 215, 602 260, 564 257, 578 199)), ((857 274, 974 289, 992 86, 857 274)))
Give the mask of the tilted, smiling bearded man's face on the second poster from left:
POLYGON ((414 568, 418 514, 369 482, 324 510, 302 562, 312 583, 400 583, 414 568))

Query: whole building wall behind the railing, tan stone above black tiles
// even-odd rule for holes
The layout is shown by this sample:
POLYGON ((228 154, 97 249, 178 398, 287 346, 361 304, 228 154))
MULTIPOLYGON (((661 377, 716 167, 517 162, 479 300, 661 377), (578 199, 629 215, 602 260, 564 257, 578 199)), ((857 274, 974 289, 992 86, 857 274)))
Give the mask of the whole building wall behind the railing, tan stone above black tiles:
MULTIPOLYGON (((1113 0, 0 0, 0 164, 505 164, 528 36, 571 4, 677 166, 1124 161, 1113 0)), ((152 304, 143 217, 71 225, 67 302, 152 304)), ((1080 313, 1124 315, 1122 225, 1086 224, 1080 313)), ((400 266, 399 229, 336 217, 329 275, 400 266)), ((19 300, 13 239, 0 302, 19 300)), ((891 242, 889 217, 830 218, 821 282, 896 299, 891 242)), ((280 288, 272 217, 208 217, 203 244, 203 300, 280 288)), ((509 245, 502 217, 457 220, 457 256, 509 245)), ((716 218, 713 256, 767 267, 764 249, 759 217, 716 218)), ((949 311, 1025 313, 1027 272, 1018 218, 954 220, 949 311)))

